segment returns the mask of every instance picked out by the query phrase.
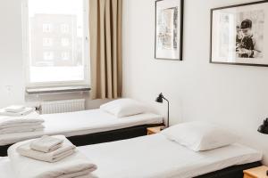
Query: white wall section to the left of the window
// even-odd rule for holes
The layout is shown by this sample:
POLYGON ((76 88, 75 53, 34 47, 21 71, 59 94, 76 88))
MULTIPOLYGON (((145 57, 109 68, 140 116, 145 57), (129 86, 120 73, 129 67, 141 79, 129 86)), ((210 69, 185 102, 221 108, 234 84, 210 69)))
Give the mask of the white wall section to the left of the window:
POLYGON ((24 101, 21 4, 0 0, 0 107, 24 101))

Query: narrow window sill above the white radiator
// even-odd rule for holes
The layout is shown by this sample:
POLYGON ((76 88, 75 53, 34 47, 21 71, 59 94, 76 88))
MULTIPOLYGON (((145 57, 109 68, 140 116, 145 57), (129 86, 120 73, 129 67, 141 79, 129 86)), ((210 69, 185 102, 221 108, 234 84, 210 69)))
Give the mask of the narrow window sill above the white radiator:
POLYGON ((26 93, 28 94, 71 93, 88 91, 90 91, 90 87, 88 85, 26 88, 26 93))

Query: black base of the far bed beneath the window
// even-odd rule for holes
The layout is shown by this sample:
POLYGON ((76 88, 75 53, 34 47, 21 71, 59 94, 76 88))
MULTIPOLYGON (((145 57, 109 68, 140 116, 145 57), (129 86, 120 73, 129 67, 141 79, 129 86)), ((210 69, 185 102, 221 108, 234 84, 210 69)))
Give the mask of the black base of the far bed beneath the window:
MULTIPOLYGON (((163 124, 156 125, 138 125, 132 126, 128 128, 122 128, 112 131, 106 131, 95 134, 84 134, 68 137, 68 139, 72 142, 72 144, 76 146, 85 146, 90 144, 102 143, 102 142, 113 142, 120 141, 124 139, 135 138, 138 136, 147 135, 147 127, 151 126, 159 126, 163 124)), ((11 145, 0 146, 0 157, 7 156, 7 149, 11 145)))

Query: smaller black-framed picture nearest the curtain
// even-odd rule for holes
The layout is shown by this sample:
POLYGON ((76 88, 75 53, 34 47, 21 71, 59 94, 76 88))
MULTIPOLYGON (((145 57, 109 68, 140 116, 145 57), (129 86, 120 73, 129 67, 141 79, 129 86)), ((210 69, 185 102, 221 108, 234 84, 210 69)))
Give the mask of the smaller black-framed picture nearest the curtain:
POLYGON ((182 61, 183 0, 155 1, 155 59, 182 61))

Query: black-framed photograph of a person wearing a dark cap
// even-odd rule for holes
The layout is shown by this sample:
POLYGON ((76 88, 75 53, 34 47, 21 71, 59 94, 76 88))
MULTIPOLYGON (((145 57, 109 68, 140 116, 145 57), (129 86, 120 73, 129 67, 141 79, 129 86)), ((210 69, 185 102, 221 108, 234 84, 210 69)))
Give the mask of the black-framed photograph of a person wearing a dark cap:
POLYGON ((268 67, 268 0, 211 10, 210 62, 268 67))

